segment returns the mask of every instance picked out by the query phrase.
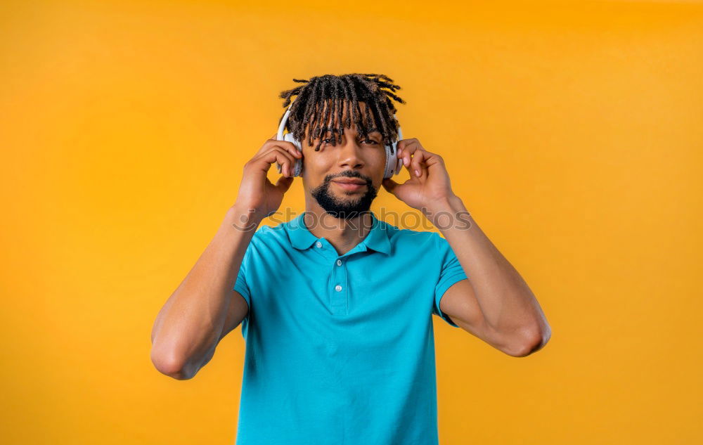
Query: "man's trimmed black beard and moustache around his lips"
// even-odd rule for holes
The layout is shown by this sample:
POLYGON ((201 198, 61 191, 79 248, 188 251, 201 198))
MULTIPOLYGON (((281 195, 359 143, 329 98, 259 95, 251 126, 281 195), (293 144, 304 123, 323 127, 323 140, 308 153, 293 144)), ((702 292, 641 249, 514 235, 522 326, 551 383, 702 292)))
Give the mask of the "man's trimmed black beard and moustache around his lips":
POLYGON ((325 181, 311 191, 315 200, 325 212, 337 219, 352 219, 368 212, 371 202, 376 198, 378 190, 373 186, 371 180, 366 176, 356 172, 343 172, 335 176, 325 176, 325 181), (359 178, 366 181, 366 193, 359 196, 345 195, 345 198, 337 198, 330 193, 330 185, 333 179, 339 177, 359 178))

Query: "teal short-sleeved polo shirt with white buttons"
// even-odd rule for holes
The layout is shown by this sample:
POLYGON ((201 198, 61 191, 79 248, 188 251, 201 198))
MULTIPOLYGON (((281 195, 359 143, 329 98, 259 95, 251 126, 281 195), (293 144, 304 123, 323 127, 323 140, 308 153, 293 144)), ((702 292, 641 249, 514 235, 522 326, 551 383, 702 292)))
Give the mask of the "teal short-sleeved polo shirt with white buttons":
POLYGON ((432 314, 458 328, 439 301, 467 277, 438 233, 371 214, 342 255, 304 213, 254 233, 237 445, 438 444, 432 314))

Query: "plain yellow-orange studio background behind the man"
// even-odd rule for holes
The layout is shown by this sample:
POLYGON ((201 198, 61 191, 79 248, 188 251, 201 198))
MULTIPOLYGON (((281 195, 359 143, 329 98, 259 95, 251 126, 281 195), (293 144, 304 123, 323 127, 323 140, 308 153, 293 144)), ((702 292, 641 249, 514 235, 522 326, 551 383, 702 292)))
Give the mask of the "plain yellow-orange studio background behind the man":
POLYGON ((234 443, 240 328, 186 381, 150 330, 278 93, 347 72, 402 87, 553 329, 516 359, 434 317, 441 444, 702 443, 703 4, 4 1, 0 64, 4 444, 234 443))

